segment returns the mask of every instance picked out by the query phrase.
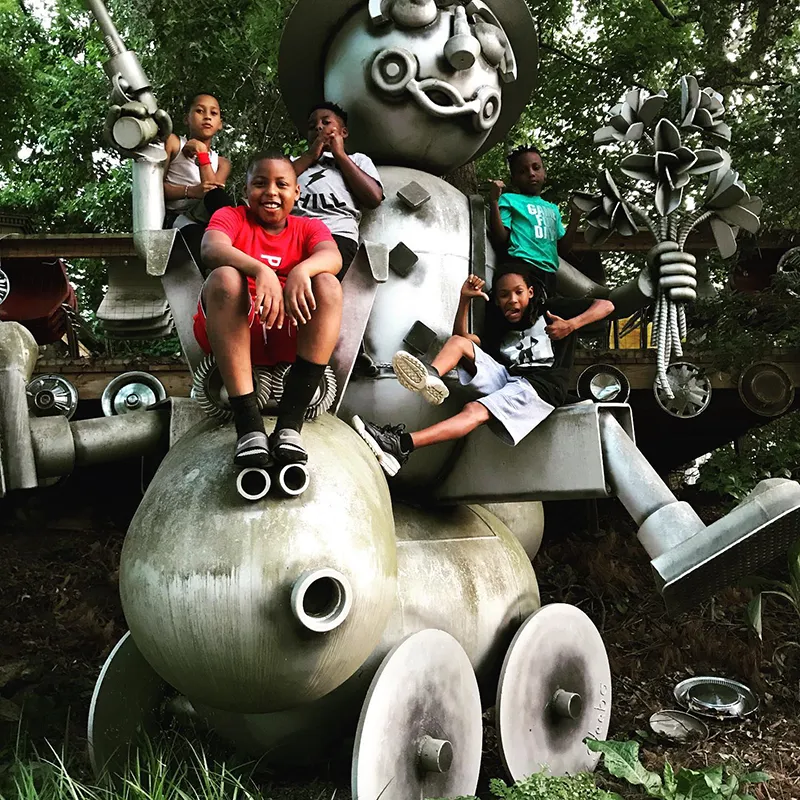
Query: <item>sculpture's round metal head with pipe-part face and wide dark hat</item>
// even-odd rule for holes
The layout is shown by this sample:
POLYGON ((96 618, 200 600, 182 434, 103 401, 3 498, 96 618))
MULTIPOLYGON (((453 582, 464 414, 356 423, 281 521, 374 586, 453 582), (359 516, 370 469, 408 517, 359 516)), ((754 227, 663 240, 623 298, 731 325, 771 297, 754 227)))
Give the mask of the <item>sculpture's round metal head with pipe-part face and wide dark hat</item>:
POLYGON ((300 0, 281 42, 281 88, 301 130, 314 103, 336 102, 351 152, 443 174, 507 133, 536 55, 522 0, 300 0))

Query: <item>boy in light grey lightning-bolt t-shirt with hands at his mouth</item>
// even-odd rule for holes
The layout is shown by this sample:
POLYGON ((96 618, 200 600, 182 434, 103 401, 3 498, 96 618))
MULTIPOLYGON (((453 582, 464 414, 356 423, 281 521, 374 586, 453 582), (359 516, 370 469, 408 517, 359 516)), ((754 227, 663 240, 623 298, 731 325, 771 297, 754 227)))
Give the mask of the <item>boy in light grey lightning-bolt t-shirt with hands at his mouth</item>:
POLYGON ((363 153, 348 155, 347 112, 336 103, 320 103, 308 117, 308 150, 295 159, 300 200, 292 212, 324 222, 342 255, 341 280, 358 250, 362 208, 383 200, 378 170, 363 153))

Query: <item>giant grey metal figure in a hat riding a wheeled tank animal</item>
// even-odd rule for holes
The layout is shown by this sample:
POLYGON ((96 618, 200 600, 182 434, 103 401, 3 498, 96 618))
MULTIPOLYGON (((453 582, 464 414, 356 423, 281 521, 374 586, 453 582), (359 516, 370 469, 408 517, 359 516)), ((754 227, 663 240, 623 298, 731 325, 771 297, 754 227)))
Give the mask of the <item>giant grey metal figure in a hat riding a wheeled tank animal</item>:
MULTIPOLYGON (((180 233, 160 229, 168 118, 102 3, 89 6, 111 52, 108 130, 134 160, 140 259, 130 269, 151 286, 161 280, 207 406, 221 405, 190 329, 200 273, 180 233)), ((391 492, 343 421, 383 422, 402 408, 421 427, 447 413, 405 392, 387 362, 401 347, 435 347, 464 278, 491 277, 481 199, 437 176, 502 139, 535 70, 522 0, 296 4, 280 57, 287 107, 301 126, 323 97, 345 106, 352 144, 379 163, 386 200, 365 215, 343 282, 332 413, 304 429, 311 476, 284 476, 293 497, 268 494, 258 474, 237 487, 231 426, 192 400, 78 422, 30 416, 35 345, 19 326, 0 325, 0 495, 81 464, 163 457, 123 547, 130 632, 92 700, 98 772, 120 765, 137 730, 191 719, 282 763, 330 756, 355 737, 359 800, 471 794, 481 710, 492 704, 512 778, 543 765, 591 769, 583 740, 608 731, 608 660, 582 612, 540 607, 530 562, 539 501, 619 497, 673 610, 797 538, 800 485, 791 481, 763 481, 706 527, 637 450, 624 404, 559 409, 513 450, 479 429, 414 454, 391 492), (353 374, 362 340, 377 376, 353 374)), ((569 265, 561 272, 566 290, 598 291, 569 265)), ((651 302, 646 289, 635 281, 611 296, 628 311, 651 302)))

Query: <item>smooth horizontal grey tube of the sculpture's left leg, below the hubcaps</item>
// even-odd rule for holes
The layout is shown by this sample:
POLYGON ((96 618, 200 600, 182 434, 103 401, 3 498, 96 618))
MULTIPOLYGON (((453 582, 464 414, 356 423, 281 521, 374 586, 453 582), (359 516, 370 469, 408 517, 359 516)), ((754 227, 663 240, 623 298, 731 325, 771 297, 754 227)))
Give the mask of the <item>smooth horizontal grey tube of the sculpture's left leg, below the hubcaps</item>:
POLYGON ((152 453, 169 435, 169 411, 134 411, 70 423, 76 466, 105 464, 152 453))

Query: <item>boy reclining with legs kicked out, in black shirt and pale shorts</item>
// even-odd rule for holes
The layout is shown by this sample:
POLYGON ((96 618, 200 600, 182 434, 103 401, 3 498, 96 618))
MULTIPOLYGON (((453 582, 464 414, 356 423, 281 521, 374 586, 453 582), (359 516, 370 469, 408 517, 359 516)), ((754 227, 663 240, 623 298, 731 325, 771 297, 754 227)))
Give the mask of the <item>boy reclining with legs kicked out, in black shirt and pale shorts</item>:
POLYGON ((567 399, 575 332, 607 317, 609 300, 543 301, 540 284, 529 273, 498 271, 494 306, 487 314, 484 347, 467 330, 469 304, 483 297, 484 281, 470 275, 461 287, 453 336, 430 366, 405 351, 395 353, 392 367, 400 383, 438 405, 449 391, 442 376, 458 367, 462 384, 478 399, 459 414, 428 428, 406 433, 403 425, 378 427, 353 417, 353 427, 389 475, 395 475, 418 447, 460 439, 488 424, 504 442, 516 445, 567 399))

